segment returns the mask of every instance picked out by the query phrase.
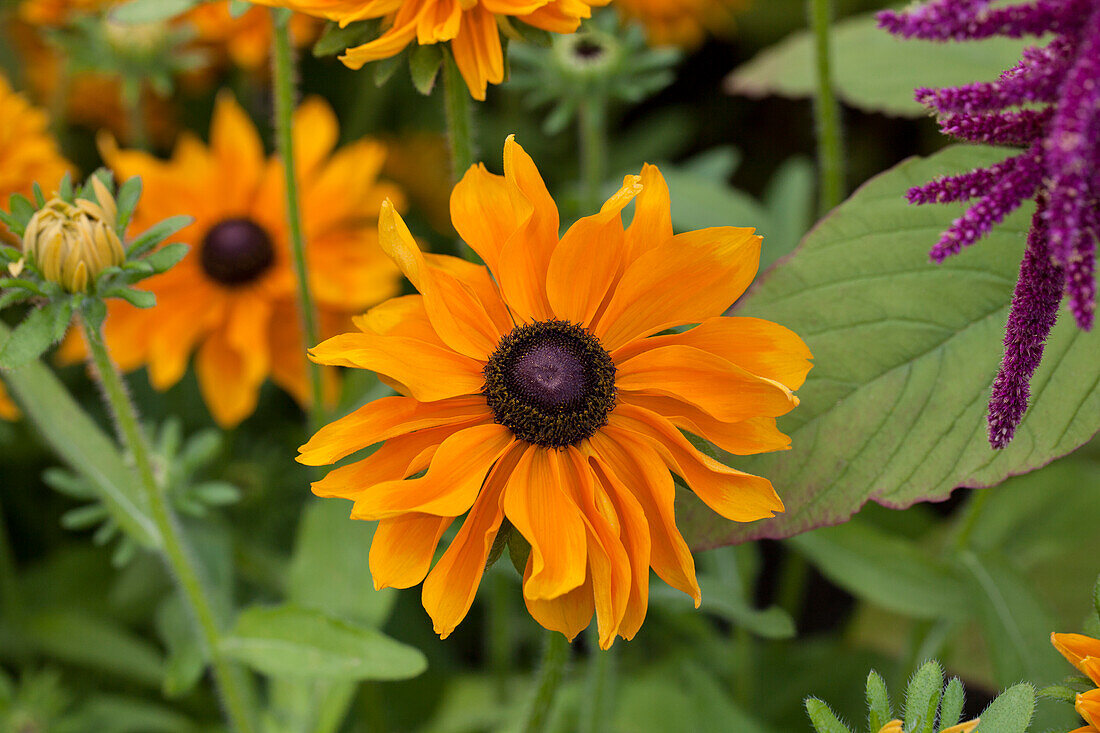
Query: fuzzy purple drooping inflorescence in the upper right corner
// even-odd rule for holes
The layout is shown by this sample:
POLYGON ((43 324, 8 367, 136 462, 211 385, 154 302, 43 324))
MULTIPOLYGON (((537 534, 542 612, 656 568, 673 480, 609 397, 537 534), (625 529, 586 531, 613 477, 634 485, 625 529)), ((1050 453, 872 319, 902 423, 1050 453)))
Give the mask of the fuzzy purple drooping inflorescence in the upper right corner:
POLYGON ((913 204, 974 201, 932 248, 936 262, 987 234, 1027 199, 1038 208, 1012 299, 1004 359, 989 403, 989 440, 1003 448, 1027 408, 1031 378, 1063 296, 1084 329, 1096 314, 1100 236, 1100 0, 932 0, 879 13, 902 37, 970 41, 1054 34, 996 81, 917 89, 945 134, 1023 147, 1019 155, 909 192, 913 204))

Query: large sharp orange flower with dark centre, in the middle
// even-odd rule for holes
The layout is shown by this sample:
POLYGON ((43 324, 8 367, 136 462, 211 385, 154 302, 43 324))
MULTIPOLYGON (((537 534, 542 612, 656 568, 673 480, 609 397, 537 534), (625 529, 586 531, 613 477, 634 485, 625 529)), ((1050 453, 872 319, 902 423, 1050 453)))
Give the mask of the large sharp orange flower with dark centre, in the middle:
POLYGON ((522 592, 536 621, 572 638, 595 612, 607 648, 641 626, 650 568, 700 602, 672 473, 734 522, 783 510, 767 479, 710 458, 682 430, 734 455, 788 448, 774 418, 798 404, 811 354, 782 326, 722 316, 752 281, 761 240, 733 227, 673 236, 656 167, 560 239, 558 208, 513 139, 504 169, 472 167, 451 198, 455 229, 487 267, 421 252, 383 205, 381 244, 419 295, 371 309, 359 332, 311 355, 377 372, 400 396, 322 428, 299 461, 382 444, 314 491, 378 521, 375 586, 424 581, 440 636, 469 611, 503 528, 530 545, 522 592))

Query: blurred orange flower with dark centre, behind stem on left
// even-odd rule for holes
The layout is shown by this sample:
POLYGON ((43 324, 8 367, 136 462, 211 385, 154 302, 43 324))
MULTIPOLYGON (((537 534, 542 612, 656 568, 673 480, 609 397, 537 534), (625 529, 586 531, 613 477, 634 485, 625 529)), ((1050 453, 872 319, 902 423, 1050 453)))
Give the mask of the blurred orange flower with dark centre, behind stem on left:
MULTIPOLYGON (((337 119, 320 99, 298 109, 294 134, 310 284, 322 330, 337 333, 351 314, 399 287, 397 267, 377 247, 375 220, 384 198, 403 197, 376 178, 382 144, 363 140, 333 152, 337 119)), ((219 96, 209 146, 185 134, 170 161, 119 150, 109 138, 100 146, 121 178, 142 177, 136 230, 174 215, 196 218, 168 240, 190 243, 190 253, 143 283, 156 294, 156 307, 110 308, 106 337, 120 366, 147 365, 153 385, 165 390, 195 351, 202 396, 222 426, 252 413, 268 375, 307 404, 283 169, 278 160, 265 160, 244 110, 230 95, 219 96)), ((75 355, 77 347, 69 346, 75 355)))

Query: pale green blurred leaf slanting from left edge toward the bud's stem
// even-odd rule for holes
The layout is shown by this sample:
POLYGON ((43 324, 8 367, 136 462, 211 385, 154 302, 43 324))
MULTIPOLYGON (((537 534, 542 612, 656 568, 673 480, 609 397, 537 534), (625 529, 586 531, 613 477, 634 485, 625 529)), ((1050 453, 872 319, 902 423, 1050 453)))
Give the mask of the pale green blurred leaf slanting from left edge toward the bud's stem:
MULTIPOLYGON (((9 333, 0 324, 0 343, 7 343, 9 333)), ((54 452, 91 482, 127 534, 146 547, 158 546, 160 533, 145 508, 138 477, 53 372, 41 362, 32 362, 4 373, 4 382, 54 452)))

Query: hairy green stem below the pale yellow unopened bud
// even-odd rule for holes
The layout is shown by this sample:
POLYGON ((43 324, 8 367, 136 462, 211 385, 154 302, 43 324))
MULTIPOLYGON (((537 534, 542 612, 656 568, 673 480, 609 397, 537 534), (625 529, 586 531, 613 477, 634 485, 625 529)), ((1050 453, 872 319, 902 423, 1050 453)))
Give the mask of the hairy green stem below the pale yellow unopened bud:
POLYGON ((224 704, 226 715, 238 733, 252 733, 255 729, 252 724, 244 679, 240 675, 240 670, 220 650, 218 642, 221 633, 218 628, 213 606, 202 584, 198 565, 187 547, 183 529, 168 505, 165 492, 162 491, 157 482, 148 444, 142 434, 138 414, 127 394, 119 370, 108 353, 102 327, 90 326, 87 318, 82 321, 84 337, 88 343, 92 363, 96 365, 99 382, 102 385, 103 398, 114 416, 125 447, 133 455, 150 514, 161 534, 161 551, 165 562, 175 573, 179 590, 198 627, 199 638, 209 654, 215 683, 224 704))

